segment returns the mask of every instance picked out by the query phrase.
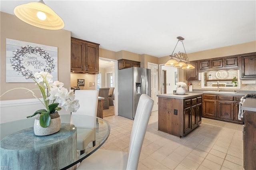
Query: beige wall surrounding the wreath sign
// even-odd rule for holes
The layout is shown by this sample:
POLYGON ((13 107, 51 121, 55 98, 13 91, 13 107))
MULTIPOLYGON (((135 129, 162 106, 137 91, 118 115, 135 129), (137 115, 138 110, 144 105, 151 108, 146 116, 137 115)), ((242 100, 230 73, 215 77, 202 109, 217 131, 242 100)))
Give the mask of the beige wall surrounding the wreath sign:
MULTIPOLYGON (((5 91, 16 88, 26 87, 35 89, 35 83, 6 83, 6 38, 20 40, 24 42, 32 42, 44 45, 58 47, 58 81, 64 83, 64 86, 70 87, 70 31, 67 30, 45 30, 30 26, 22 22, 14 15, 0 12, 0 94, 5 91)), ((39 94, 40 97, 40 93, 39 94)), ((10 91, 2 96, 0 100, 13 99, 31 99, 34 98, 31 93, 18 89, 10 91)))

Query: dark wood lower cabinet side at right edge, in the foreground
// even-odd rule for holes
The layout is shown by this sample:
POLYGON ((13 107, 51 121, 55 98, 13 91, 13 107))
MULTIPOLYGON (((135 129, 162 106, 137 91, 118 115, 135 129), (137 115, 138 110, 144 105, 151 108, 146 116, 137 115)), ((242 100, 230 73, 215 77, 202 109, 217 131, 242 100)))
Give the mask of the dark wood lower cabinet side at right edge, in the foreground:
POLYGON ((256 170, 256 112, 244 112, 244 169, 256 170))

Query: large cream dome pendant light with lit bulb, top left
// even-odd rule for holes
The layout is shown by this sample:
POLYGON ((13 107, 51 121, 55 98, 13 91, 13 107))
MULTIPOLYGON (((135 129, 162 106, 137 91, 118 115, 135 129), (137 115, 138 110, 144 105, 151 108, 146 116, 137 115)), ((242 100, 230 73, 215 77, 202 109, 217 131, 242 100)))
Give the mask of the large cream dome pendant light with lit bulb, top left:
POLYGON ((22 21, 47 30, 64 28, 63 20, 44 1, 30 2, 16 6, 14 14, 22 21))

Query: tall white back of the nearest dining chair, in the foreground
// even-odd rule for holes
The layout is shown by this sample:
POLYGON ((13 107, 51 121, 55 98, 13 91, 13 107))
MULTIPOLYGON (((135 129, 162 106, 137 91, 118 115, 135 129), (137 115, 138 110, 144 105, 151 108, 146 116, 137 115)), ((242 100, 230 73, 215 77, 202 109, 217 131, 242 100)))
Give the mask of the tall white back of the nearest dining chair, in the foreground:
POLYGON ((139 99, 130 135, 127 170, 136 170, 154 101, 146 94, 139 99))

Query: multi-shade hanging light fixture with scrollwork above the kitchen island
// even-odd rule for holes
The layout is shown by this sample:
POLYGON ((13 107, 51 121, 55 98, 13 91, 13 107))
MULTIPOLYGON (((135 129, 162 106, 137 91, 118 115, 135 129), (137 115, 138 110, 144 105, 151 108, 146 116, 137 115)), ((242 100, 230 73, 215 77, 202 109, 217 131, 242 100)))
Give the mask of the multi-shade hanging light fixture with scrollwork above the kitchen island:
MULTIPOLYGON (((178 42, 182 42, 184 40, 183 37, 177 37, 178 42)), ((176 43, 174 50, 178 44, 176 43)), ((182 68, 182 69, 194 69, 195 67, 191 64, 189 64, 186 49, 184 47, 184 44, 182 42, 183 48, 185 53, 181 53, 180 51, 177 53, 174 53, 174 50, 172 51, 172 55, 170 55, 170 59, 164 64, 165 66, 174 66, 176 68, 182 68), (174 53, 174 56, 173 56, 174 53), (184 55, 184 56, 183 56, 184 55)))

